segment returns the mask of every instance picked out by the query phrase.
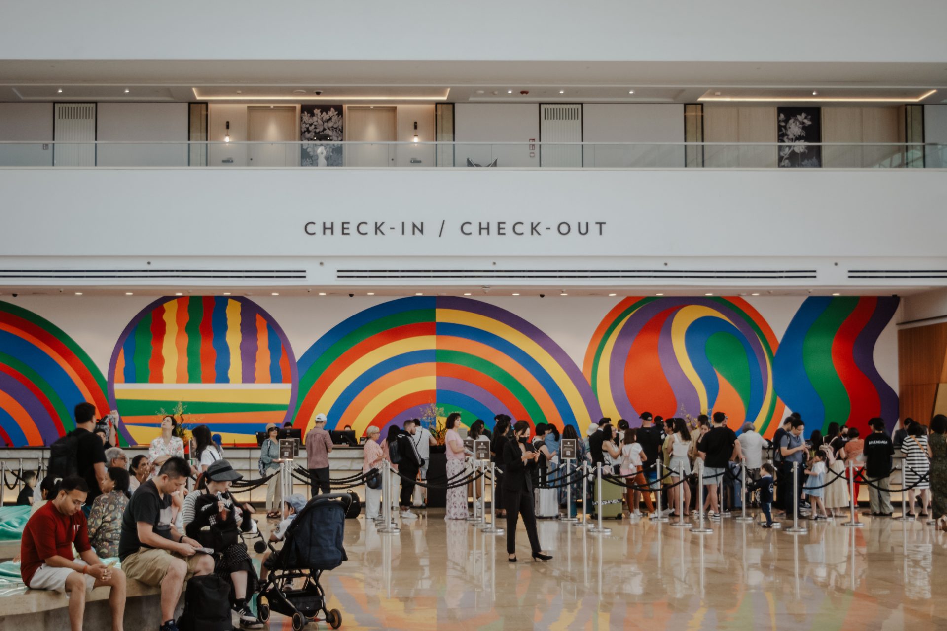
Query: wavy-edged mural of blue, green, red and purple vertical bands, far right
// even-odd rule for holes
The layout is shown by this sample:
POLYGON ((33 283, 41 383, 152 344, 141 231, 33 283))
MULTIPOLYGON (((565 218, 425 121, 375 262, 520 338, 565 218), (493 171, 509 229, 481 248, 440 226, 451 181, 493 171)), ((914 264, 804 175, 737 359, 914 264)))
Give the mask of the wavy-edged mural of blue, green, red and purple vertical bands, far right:
POLYGON ((898 420, 898 394, 875 367, 875 342, 894 317, 900 298, 820 296, 807 298, 779 343, 774 373, 777 393, 802 414, 806 434, 834 421, 858 428, 884 418, 898 420))

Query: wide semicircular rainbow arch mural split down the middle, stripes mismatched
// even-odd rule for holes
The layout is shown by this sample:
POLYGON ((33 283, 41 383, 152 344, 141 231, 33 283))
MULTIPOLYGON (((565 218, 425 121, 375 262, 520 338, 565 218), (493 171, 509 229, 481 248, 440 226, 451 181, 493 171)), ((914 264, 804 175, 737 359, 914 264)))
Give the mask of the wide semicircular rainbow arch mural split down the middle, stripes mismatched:
POLYGON ((317 412, 330 428, 421 417, 431 404, 470 425, 514 419, 584 430, 599 405, 575 362, 549 336, 501 307, 468 298, 411 297, 353 315, 299 360, 295 427, 317 412))

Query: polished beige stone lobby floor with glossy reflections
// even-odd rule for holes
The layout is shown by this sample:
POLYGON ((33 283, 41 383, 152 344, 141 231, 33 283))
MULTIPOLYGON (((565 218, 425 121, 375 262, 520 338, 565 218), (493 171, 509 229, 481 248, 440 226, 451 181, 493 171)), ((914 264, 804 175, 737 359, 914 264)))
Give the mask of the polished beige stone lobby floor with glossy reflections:
MULTIPOLYGON (((505 535, 442 509, 397 535, 359 517, 346 524, 348 562, 323 586, 343 629, 947 629, 947 533, 860 518, 858 529, 807 521, 805 535, 732 518, 707 535, 627 517, 604 522, 610 535, 543 520, 555 558, 532 562, 521 524, 510 564, 505 535)), ((270 628, 292 626, 274 615, 270 628)))

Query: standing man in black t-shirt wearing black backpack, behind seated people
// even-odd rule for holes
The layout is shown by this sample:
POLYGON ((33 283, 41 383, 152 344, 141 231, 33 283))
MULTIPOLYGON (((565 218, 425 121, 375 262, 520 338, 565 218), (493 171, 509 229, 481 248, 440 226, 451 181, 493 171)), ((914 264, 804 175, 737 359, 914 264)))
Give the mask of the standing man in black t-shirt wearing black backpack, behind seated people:
POLYGON ((82 402, 76 406, 76 429, 49 447, 49 475, 56 478, 80 476, 89 487, 82 513, 89 517, 92 502, 102 494, 107 482, 105 475, 105 447, 93 433, 96 428, 96 406, 82 402))

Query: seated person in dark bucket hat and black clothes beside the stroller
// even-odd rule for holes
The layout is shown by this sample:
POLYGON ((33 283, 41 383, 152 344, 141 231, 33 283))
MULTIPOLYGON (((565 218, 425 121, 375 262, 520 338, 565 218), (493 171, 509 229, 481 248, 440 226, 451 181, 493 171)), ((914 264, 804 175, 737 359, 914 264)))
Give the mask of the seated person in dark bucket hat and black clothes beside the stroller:
POLYGON ((188 536, 214 551, 214 572, 230 583, 230 603, 241 626, 253 628, 263 623, 250 612, 247 599, 259 589, 259 579, 240 536, 253 528, 253 520, 230 495, 230 484, 242 478, 226 460, 211 464, 201 488, 185 499, 183 517, 188 536))

